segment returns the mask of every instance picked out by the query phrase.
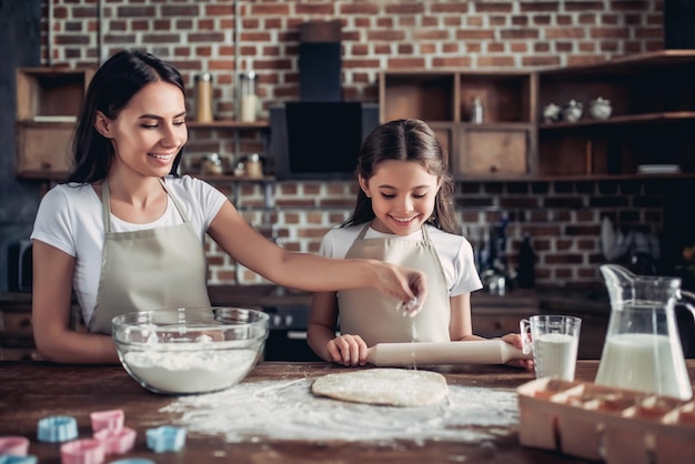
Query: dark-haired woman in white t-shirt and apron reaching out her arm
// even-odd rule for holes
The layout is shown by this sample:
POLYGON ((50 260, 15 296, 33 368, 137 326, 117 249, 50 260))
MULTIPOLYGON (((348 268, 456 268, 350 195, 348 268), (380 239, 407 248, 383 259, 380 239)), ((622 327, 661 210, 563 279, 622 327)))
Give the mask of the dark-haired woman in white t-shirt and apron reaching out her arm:
POLYGON ((33 239, 33 334, 40 354, 115 363, 113 316, 210 306, 205 233, 235 261, 306 291, 371 286, 393 304, 424 295, 422 272, 377 261, 290 253, 255 232, 205 182, 175 176, 188 140, 181 74, 122 51, 97 71, 75 129, 68 183, 49 191, 33 239), (74 291, 88 333, 70 330, 74 291))

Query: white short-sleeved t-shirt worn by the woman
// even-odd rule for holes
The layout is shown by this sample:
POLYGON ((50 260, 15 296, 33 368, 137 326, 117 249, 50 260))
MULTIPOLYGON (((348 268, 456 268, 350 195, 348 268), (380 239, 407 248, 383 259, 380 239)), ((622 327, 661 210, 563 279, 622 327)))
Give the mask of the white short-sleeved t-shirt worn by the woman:
MULTIPOLYGON (((180 179, 167 176, 164 184, 181 204, 185 218, 200 236, 202 246, 205 233, 226 201, 226 196, 209 183, 189 175, 180 179)), ((183 218, 171 198, 164 214, 147 224, 129 223, 111 214, 112 232, 130 232, 181 223, 183 218)), ((41 200, 31 239, 48 243, 75 259, 72 288, 82 309, 82 316, 84 321, 89 321, 97 304, 104 240, 101 198, 92 185, 69 183, 51 189, 41 200)))

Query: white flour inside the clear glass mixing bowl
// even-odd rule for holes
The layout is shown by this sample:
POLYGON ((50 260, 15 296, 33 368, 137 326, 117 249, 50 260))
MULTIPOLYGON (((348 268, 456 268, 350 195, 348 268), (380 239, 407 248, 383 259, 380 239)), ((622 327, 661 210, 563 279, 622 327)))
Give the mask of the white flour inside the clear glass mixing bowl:
POLYGON ((204 393, 241 381, 255 364, 253 350, 131 351, 123 355, 129 373, 160 393, 204 393))

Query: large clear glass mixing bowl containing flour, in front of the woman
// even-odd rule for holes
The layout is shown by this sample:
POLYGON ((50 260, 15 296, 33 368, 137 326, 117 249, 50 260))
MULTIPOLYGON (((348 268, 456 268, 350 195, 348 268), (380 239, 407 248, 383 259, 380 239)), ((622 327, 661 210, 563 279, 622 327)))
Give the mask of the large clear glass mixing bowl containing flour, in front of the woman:
POLYGON ((122 314, 112 327, 125 371, 152 392, 180 395, 243 380, 262 356, 269 317, 241 307, 182 307, 122 314))

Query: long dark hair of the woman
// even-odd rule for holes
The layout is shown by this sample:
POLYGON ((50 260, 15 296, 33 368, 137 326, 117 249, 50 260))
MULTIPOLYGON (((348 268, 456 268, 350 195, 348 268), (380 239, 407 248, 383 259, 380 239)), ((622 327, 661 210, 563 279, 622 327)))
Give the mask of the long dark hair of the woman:
MULTIPOLYGON (((84 104, 78 118, 72 140, 74 159, 68 182, 89 183, 105 179, 115 152, 111 141, 94 129, 97 111, 115 119, 135 93, 157 81, 177 85, 185 97, 179 71, 150 53, 123 50, 99 68, 87 88, 84 104)), ((171 169, 174 175, 181 153, 177 154, 171 169)))

